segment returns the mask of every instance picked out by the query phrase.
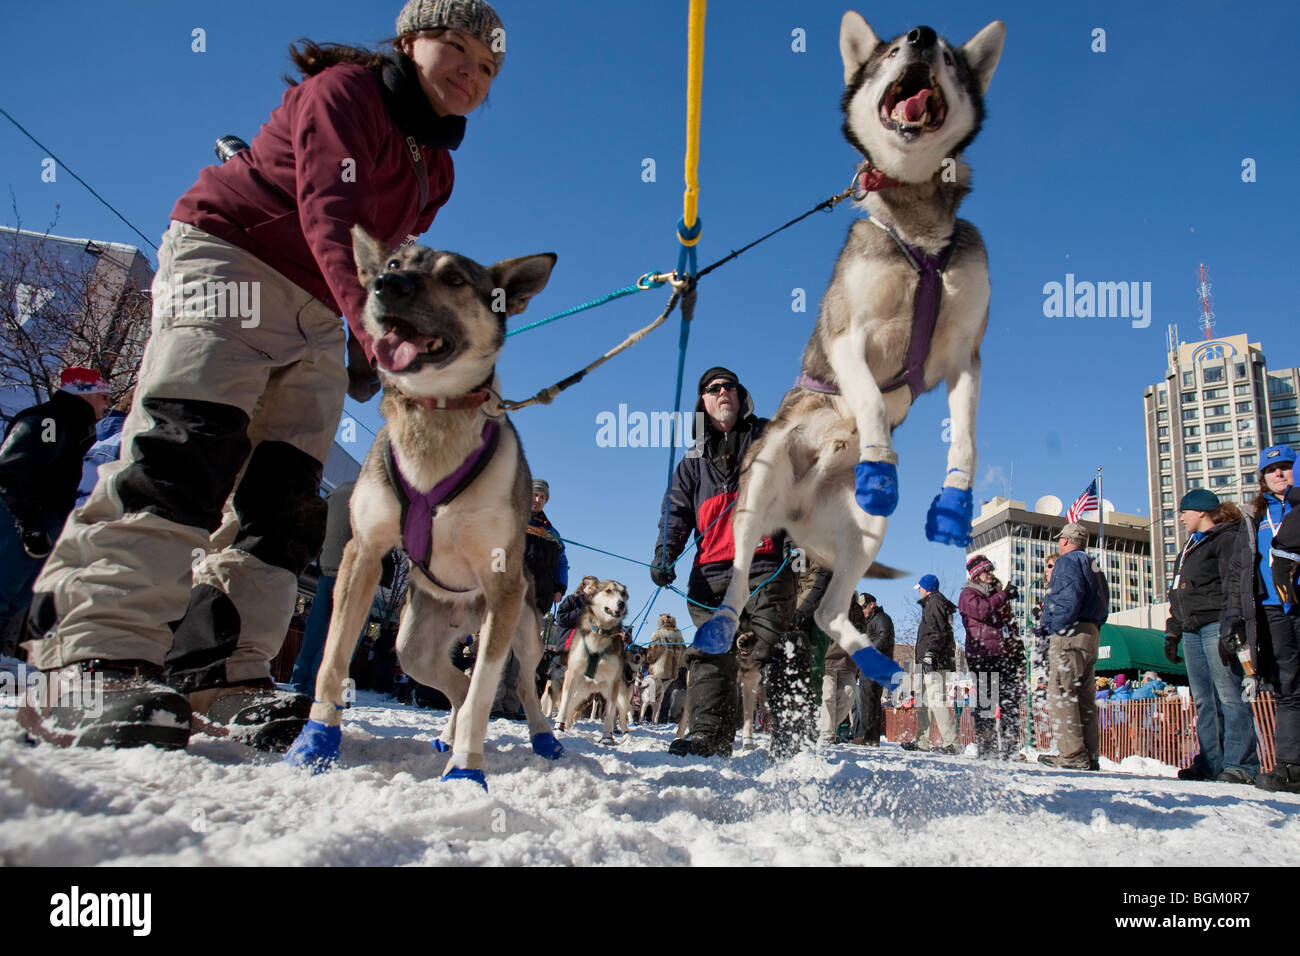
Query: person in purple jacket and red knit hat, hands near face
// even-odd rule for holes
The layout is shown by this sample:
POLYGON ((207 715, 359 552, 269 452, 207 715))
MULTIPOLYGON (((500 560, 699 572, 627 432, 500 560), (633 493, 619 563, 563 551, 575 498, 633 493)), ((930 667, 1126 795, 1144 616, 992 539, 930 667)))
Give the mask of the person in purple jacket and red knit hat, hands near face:
POLYGON ((1010 760, 1020 747, 1024 644, 1011 619, 1011 602, 1020 592, 1014 584, 1002 587, 993 574, 993 562, 983 554, 966 562, 966 574, 970 580, 957 598, 966 627, 966 666, 976 675, 988 675, 983 685, 997 698, 996 705, 984 701, 975 710, 975 748, 980 757, 1010 760), (997 708, 1000 718, 994 717, 997 708))

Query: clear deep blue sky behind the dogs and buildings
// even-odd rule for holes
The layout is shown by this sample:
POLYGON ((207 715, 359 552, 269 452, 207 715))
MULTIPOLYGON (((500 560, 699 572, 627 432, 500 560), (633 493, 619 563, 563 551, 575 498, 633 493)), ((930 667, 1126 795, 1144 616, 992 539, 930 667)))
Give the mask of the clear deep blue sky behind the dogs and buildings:
MULTIPOLYGON (((10 5, 0 36, 0 105, 155 242, 176 199, 214 161, 216 137, 256 134, 280 103, 299 36, 368 43, 391 35, 399 3, 174 4, 124 0, 10 5), (207 52, 191 52, 191 30, 207 52)), ((705 44, 701 264, 837 193, 857 155, 840 134, 844 0, 715 0, 705 44), (792 31, 806 31, 806 52, 792 31)), ((550 286, 525 321, 676 261, 685 142, 686 3, 499 0, 507 59, 455 153, 456 189, 422 242, 482 261, 554 251, 550 286), (656 181, 642 181, 642 160, 656 181)), ((863 9, 880 35, 928 23, 963 43, 993 18, 1006 46, 984 131, 967 152, 975 193, 962 215, 989 248, 993 298, 984 339, 976 502, 1008 490, 1066 502, 1097 466, 1121 511, 1147 511, 1141 390, 1162 376, 1165 329, 1195 326, 1196 268, 1209 264, 1222 334, 1248 332, 1269 364, 1300 364, 1292 90, 1294 4, 1014 0, 863 9), (1091 51, 1106 31, 1106 52, 1091 51), (1242 181, 1242 161, 1257 181, 1242 181), (1152 323, 1046 319, 1046 282, 1152 284, 1152 323)), ((22 225, 143 246, 0 120, 0 181, 22 225)), ((14 225, 5 204, 0 221, 14 225)), ((712 364, 734 368, 759 414, 798 373, 822 291, 855 213, 841 206, 748 252, 701 284, 688 389, 712 364), (794 289, 809 308, 790 310, 794 289)), ((148 250, 152 256, 152 250, 148 250)), ((644 293, 512 338, 500 363, 508 397, 585 364, 649 321, 666 294, 644 293)), ((550 407, 515 423, 547 514, 566 537, 649 561, 667 477, 663 449, 598 447, 597 416, 672 407, 677 328, 662 328, 550 407)), ((693 393, 688 393, 688 407, 693 393)), ((377 427, 377 405, 348 411, 377 427)), ((923 397, 894 433, 901 503, 880 559, 959 580, 959 549, 924 540, 944 475, 946 398, 923 397)), ((364 447, 358 447, 358 455, 364 447)), ((578 548, 576 575, 628 584, 646 570, 578 548)), ((685 568, 682 568, 685 571, 685 568)), ((685 574, 681 575, 682 580, 685 574)), ((875 583, 906 617, 915 578, 875 583)), ((870 587, 870 585, 868 585, 870 587)), ((684 602, 660 600, 685 620, 684 602)), ((649 633, 649 632, 646 632, 649 633)), ((642 633, 642 640, 646 640, 642 633)), ((910 640, 906 633, 900 635, 910 640)))

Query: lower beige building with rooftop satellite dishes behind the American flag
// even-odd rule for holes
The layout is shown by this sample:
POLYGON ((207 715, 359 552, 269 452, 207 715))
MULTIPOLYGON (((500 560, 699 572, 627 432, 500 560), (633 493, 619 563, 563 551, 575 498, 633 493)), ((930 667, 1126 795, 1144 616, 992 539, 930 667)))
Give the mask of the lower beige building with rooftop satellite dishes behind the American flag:
MULTIPOLYGON (((1106 512, 1105 554, 1100 550, 1100 527, 1093 519, 1079 523, 1088 532, 1087 551, 1105 568, 1110 585, 1110 610, 1123 611, 1154 601, 1154 578, 1148 520, 1141 515, 1106 512)), ((1015 620, 1023 623, 1028 609, 1046 594, 1043 563, 1057 553, 1057 533, 1065 527, 1061 515, 1030 511, 1023 501, 993 498, 984 502, 971 525, 971 545, 966 557, 983 554, 993 562, 1004 583, 1020 588, 1015 601, 1015 620)), ((953 597, 956 601, 957 598, 953 597)))

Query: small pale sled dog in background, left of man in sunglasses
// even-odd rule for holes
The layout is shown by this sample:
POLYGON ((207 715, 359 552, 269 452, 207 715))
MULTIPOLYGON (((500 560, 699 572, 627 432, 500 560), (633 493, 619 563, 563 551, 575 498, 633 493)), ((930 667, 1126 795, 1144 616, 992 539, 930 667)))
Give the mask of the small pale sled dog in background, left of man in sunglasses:
POLYGON ((618 581, 595 585, 586 614, 569 643, 564 691, 560 693, 560 730, 572 727, 592 695, 604 698, 602 744, 614 743, 614 724, 627 722, 630 688, 623 679, 623 618, 628 614, 628 589, 618 581))

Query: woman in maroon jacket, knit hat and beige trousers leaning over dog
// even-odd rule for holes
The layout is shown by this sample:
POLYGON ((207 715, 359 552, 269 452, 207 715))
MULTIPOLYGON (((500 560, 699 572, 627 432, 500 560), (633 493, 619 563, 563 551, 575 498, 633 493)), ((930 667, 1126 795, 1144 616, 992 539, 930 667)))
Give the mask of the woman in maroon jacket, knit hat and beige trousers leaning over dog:
POLYGON ((320 550, 344 392, 377 385, 350 230, 396 247, 429 228, 504 59, 484 0, 410 0, 396 34, 386 53, 291 47, 302 82, 172 211, 121 462, 68 522, 29 619, 30 661, 103 674, 104 706, 30 700, 34 736, 185 747, 192 718, 278 749, 302 727, 309 698, 278 693, 268 662, 320 550))

